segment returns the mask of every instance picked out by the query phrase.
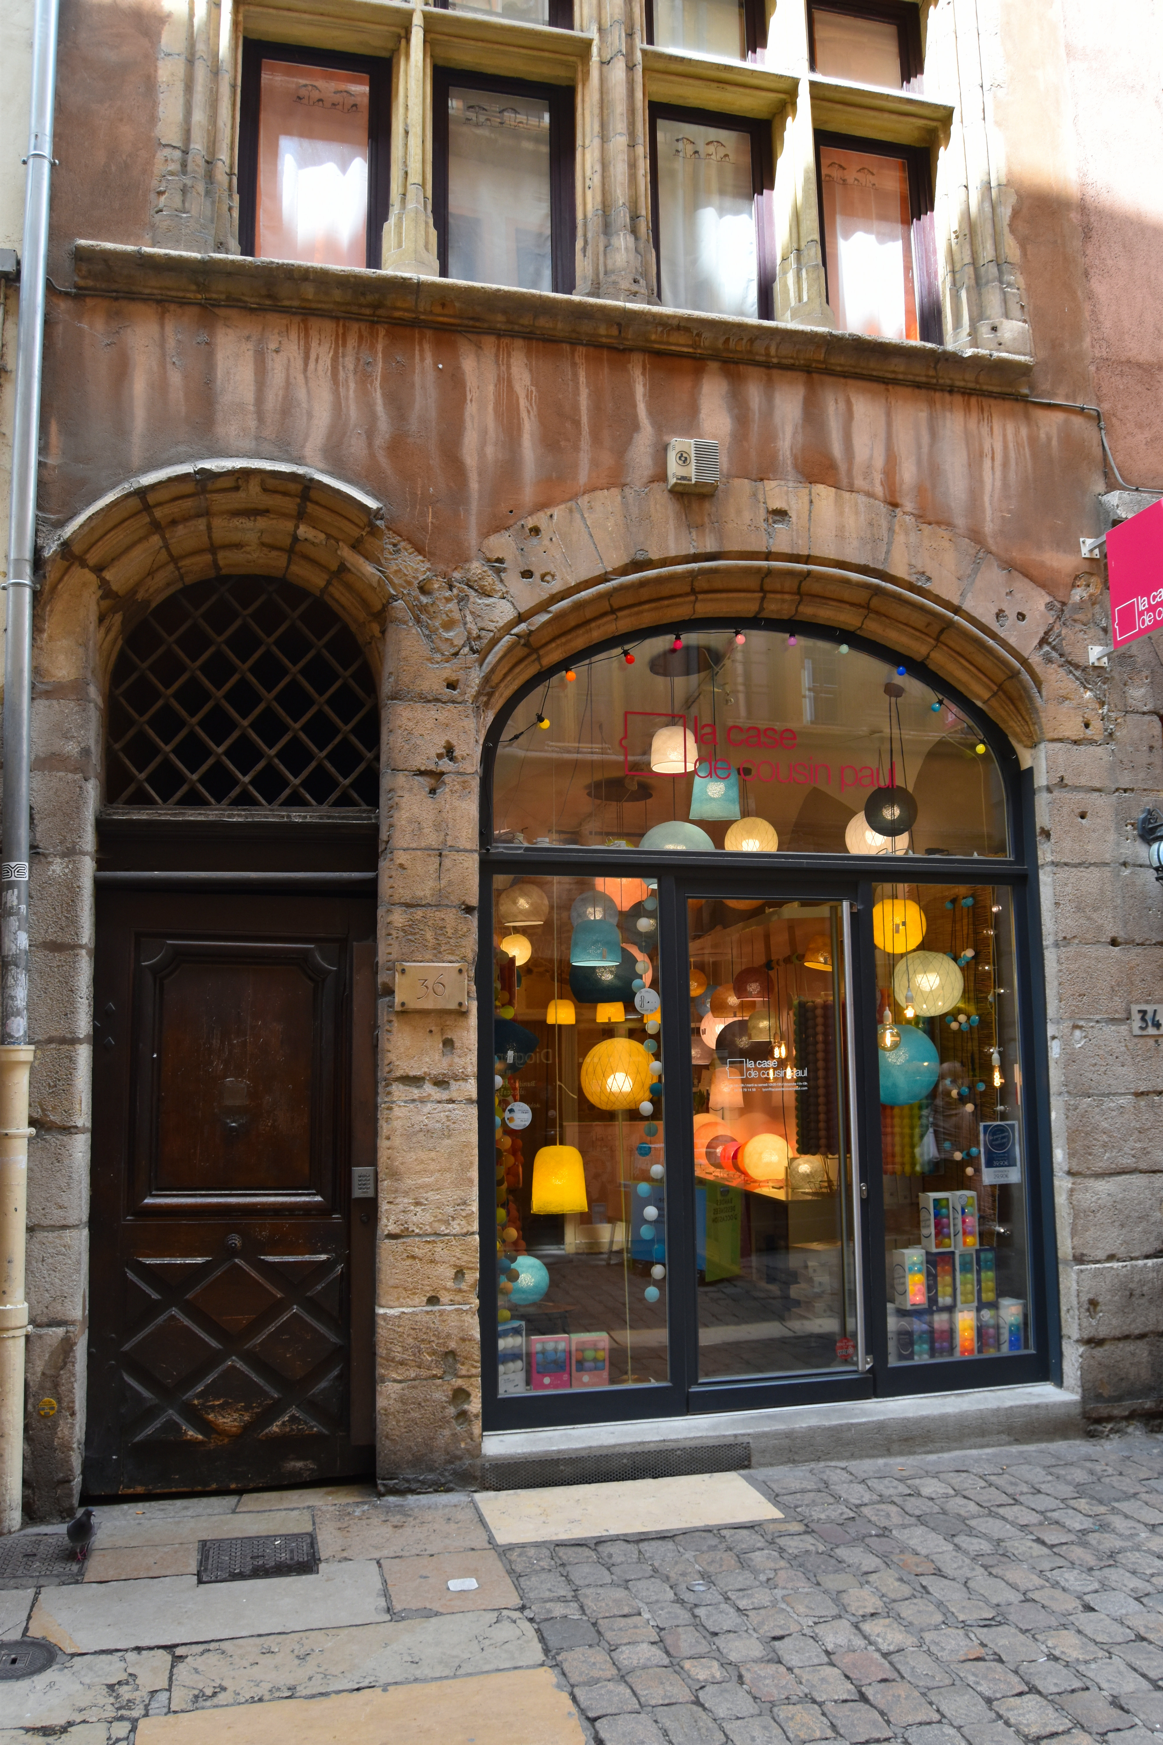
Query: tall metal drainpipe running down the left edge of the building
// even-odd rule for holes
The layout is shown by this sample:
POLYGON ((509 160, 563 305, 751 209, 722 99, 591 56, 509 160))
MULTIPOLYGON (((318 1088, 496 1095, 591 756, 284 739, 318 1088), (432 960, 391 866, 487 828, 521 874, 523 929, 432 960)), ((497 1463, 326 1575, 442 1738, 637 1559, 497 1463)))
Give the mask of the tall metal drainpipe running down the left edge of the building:
POLYGON ((44 352, 58 0, 35 0, 21 309, 16 330, 12 510, 3 649, 0 815, 0 1532, 21 1525, 24 1478, 24 1213, 28 1190, 28 766, 33 562, 44 352))

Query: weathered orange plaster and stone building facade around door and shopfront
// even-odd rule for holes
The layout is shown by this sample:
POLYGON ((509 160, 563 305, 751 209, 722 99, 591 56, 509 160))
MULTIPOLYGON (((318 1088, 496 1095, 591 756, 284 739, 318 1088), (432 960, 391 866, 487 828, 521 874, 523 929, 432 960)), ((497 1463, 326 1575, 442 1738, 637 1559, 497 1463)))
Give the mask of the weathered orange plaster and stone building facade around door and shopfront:
MULTIPOLYGON (((1050 1117, 1039 1373, 1095 1426, 1163 1410, 1163 1050, 1128 1030, 1163 972, 1133 829, 1163 785, 1163 677, 1156 637, 1090 663, 1104 569, 1079 558, 1081 536, 1163 489, 1163 209, 1146 168, 1126 176, 1163 138, 1160 49, 1146 3, 1100 44, 1081 0, 912 10, 922 96, 813 72, 802 0, 769 7, 765 56, 738 61, 647 42, 638 0, 575 0, 574 28, 398 0, 66 0, 33 703, 28 1398, 56 1403, 28 1417, 37 1518, 85 1482, 108 1333, 89 1279, 110 1241, 91 1180, 113 1167, 92 1138, 94 874, 127 864, 108 834, 110 682, 152 611, 228 576, 319 597, 378 688, 385 1485, 479 1473, 481 1096, 492 1115, 488 975, 436 1017, 396 1009, 394 967, 478 963, 497 715, 588 649, 699 621, 861 637, 1017 752, 1041 886, 1030 1094, 1046 1087, 1050 1117), (389 68, 377 269, 241 251, 244 40, 389 68), (441 274, 441 70, 567 94, 572 295, 441 274), (663 304, 650 105, 767 129, 772 319, 663 304), (821 131, 929 164, 940 344, 837 328, 821 131), (668 490, 666 445, 690 433, 718 441, 713 496, 668 490)), ((492 1324, 492 1283, 481 1300, 492 1324)))

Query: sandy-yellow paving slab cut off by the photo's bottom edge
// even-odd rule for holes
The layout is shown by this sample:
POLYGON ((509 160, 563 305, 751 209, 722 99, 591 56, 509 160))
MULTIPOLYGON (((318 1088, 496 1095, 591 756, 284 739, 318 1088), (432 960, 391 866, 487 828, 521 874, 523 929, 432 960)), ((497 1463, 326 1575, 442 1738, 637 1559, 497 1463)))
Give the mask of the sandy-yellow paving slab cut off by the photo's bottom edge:
POLYGON ((136 1745, 582 1745, 547 1668, 141 1721, 136 1745))

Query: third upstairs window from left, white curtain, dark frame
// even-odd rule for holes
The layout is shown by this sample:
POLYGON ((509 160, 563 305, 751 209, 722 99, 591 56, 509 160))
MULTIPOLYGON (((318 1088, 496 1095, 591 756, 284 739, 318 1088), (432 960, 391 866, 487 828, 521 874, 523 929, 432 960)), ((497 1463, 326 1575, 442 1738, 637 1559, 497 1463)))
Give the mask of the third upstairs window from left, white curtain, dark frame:
POLYGON ((654 239, 670 309, 771 316, 767 129, 650 105, 654 239))

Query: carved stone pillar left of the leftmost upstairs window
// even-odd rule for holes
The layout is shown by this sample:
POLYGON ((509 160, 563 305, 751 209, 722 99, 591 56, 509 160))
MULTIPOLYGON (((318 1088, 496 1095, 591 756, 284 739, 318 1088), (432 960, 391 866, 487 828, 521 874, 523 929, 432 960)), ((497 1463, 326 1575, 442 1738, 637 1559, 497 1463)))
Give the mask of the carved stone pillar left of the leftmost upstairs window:
POLYGON ((190 255, 237 255, 232 0, 166 9, 152 239, 190 255))

